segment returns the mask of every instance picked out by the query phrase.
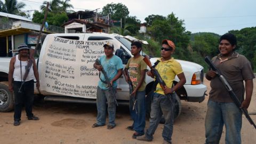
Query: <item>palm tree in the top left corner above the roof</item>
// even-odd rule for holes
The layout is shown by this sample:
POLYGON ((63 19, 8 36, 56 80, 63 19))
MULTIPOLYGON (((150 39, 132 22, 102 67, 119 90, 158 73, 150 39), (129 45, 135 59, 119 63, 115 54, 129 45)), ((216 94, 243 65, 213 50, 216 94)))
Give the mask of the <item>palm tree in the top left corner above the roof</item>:
POLYGON ((5 0, 4 2, 5 3, 1 1, 0 3, 1 12, 17 14, 17 15, 23 14, 21 9, 23 9, 26 6, 25 3, 17 2, 17 0, 5 0))

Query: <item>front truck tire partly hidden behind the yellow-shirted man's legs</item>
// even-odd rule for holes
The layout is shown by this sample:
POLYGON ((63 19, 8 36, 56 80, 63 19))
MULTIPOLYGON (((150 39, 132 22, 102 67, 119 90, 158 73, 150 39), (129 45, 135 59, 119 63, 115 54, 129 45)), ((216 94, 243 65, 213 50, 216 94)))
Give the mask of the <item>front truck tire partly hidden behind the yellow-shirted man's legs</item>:
MULTIPOLYGON (((174 94, 175 94, 175 103, 174 103, 173 112, 174 112, 174 120, 175 120, 176 118, 178 118, 180 116, 181 102, 180 102, 179 96, 176 93, 174 93, 174 94)), ((146 117, 147 118, 150 117, 152 98, 153 98, 153 92, 149 93, 146 98, 146 117)), ((161 123, 161 124, 165 123, 164 116, 162 116, 161 121, 159 123, 161 123)))

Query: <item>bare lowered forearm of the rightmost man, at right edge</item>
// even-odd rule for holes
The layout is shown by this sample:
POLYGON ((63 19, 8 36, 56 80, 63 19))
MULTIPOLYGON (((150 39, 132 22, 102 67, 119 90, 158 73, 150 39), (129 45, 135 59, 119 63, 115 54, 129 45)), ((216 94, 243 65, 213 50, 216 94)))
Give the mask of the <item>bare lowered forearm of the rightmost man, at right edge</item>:
POLYGON ((245 100, 242 102, 241 108, 248 108, 252 99, 253 92, 253 80, 247 79, 245 80, 245 100))

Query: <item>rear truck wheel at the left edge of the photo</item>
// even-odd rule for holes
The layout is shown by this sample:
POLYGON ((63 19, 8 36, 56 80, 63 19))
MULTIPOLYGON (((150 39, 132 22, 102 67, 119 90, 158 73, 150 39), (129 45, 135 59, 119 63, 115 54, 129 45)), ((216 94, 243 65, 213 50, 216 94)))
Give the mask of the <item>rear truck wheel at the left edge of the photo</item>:
POLYGON ((13 93, 8 90, 6 82, 0 83, 0 111, 9 112, 13 108, 13 93))

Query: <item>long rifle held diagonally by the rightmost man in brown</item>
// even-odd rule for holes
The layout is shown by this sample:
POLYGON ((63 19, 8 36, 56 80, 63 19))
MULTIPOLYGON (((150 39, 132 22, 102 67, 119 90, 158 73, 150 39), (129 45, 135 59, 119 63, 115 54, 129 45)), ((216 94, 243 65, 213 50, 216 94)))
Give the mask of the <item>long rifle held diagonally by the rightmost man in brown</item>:
POLYGON ((211 59, 208 56, 206 56, 204 60, 210 66, 210 68, 216 72, 216 75, 219 77, 222 84, 226 87, 231 99, 235 102, 236 106, 243 112, 243 114, 248 119, 250 124, 252 124, 254 126, 254 128, 256 129, 256 125, 252 121, 252 118, 249 116, 247 110, 245 108, 240 108, 241 102, 238 100, 235 92, 233 91, 231 86, 228 84, 226 78, 221 74, 221 71, 219 69, 217 69, 217 67, 214 66, 214 64, 212 63, 211 59))

